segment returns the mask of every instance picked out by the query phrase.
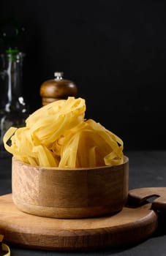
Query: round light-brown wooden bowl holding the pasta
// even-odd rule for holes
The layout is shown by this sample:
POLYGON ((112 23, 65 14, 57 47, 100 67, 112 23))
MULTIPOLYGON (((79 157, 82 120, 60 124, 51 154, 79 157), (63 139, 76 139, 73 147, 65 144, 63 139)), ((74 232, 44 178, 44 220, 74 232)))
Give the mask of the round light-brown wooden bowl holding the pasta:
POLYGON ((117 166, 37 167, 12 158, 12 200, 29 214, 97 217, 121 211, 129 189, 129 159, 117 166))

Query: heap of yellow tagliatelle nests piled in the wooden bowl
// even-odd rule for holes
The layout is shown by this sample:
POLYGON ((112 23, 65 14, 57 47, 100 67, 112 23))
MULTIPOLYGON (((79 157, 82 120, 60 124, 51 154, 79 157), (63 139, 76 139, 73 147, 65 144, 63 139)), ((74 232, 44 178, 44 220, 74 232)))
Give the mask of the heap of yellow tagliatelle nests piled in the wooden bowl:
POLYGON ((25 127, 10 127, 4 146, 30 165, 75 168, 122 164, 123 141, 96 121, 85 120, 85 111, 82 98, 68 97, 45 105, 26 119, 25 127))

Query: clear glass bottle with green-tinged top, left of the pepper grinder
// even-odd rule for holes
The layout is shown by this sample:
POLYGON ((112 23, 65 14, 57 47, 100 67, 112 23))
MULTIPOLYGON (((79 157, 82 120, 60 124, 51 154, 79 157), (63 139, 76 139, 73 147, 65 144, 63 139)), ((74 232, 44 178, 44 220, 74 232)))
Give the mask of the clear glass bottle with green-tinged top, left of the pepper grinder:
POLYGON ((22 94, 22 68, 24 54, 18 49, 8 49, 1 54, 0 72, 0 157, 7 157, 4 133, 10 127, 23 127, 29 116, 29 106, 22 94))

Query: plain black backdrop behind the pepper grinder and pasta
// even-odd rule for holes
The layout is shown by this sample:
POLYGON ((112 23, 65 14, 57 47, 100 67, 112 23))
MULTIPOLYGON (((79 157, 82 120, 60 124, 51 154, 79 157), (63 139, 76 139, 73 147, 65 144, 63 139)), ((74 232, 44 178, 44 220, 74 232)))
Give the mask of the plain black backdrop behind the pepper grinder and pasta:
POLYGON ((165 1, 1 1, 0 20, 26 27, 23 91, 31 112, 39 87, 63 71, 86 99, 86 118, 125 149, 165 149, 165 1))

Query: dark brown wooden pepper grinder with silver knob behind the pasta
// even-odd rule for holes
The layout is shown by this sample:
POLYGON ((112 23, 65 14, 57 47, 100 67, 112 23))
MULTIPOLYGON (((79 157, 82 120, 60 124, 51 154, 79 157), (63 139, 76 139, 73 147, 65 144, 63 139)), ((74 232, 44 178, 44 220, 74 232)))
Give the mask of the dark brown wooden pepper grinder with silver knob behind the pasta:
POLYGON ((59 99, 67 99, 67 97, 76 97, 78 87, 70 80, 63 78, 63 72, 55 72, 53 80, 47 80, 40 86, 39 94, 42 97, 42 105, 48 105, 59 99))

